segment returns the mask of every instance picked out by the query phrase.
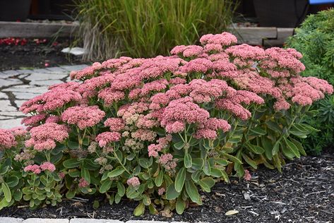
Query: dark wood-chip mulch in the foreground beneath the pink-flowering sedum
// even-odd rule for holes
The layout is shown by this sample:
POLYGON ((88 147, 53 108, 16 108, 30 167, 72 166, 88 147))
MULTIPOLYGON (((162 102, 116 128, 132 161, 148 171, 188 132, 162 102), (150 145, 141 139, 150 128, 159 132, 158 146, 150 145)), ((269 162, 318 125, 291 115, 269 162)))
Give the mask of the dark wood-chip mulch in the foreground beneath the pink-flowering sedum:
POLYGON ((334 155, 302 157, 287 164, 283 173, 261 168, 253 179, 232 178, 232 183, 217 183, 211 193, 203 193, 203 206, 189 207, 183 215, 133 217, 136 202, 101 205, 94 210, 93 200, 64 200, 56 207, 29 210, 10 207, 0 216, 43 218, 155 219, 184 222, 333 222, 334 155), (236 215, 226 216, 229 210, 236 215))

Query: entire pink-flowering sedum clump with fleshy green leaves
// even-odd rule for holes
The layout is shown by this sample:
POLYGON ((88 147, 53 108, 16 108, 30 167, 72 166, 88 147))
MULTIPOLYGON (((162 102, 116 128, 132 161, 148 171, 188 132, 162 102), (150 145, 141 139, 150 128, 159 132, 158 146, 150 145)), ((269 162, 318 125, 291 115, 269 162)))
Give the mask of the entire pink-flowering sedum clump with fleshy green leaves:
POLYGON ((304 116, 333 87, 299 76, 294 49, 235 45, 227 32, 200 42, 95 63, 25 102, 28 128, 0 131, 0 208, 101 193, 138 201, 134 215, 181 214, 217 181, 305 155, 304 116))

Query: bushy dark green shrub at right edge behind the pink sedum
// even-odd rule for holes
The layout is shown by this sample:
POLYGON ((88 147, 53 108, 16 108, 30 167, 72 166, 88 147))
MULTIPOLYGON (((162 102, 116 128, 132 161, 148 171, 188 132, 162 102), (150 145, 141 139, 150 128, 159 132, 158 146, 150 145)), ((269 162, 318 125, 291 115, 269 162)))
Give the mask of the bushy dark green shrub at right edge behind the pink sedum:
MULTIPOLYGON (((321 11, 306 18, 296 34, 287 41, 287 47, 297 49, 303 54, 302 62, 306 66, 302 76, 316 76, 334 84, 334 9, 321 11)), ((306 151, 320 154, 326 147, 334 143, 333 114, 334 97, 326 97, 316 102, 311 109, 318 111, 309 117, 309 123, 318 131, 314 131, 304 140, 306 151)))

